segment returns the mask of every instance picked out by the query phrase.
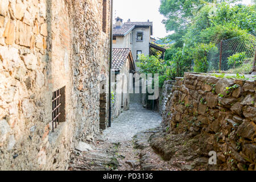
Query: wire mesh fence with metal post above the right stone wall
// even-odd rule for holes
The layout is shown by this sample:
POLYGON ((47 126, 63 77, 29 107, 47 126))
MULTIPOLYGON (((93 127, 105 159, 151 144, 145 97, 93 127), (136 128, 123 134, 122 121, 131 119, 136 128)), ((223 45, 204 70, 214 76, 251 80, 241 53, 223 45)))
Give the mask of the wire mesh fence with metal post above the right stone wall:
POLYGON ((208 52, 208 72, 249 73, 253 68, 255 46, 254 36, 221 40, 208 52))

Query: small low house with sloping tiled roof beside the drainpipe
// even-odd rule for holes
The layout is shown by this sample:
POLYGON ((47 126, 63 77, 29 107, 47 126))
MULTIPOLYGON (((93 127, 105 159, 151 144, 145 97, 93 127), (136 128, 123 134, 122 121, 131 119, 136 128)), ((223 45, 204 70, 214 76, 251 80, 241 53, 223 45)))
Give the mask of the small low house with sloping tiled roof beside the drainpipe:
POLYGON ((113 106, 114 117, 129 109, 129 73, 135 72, 135 64, 129 48, 113 48, 112 73, 113 77, 113 106))

